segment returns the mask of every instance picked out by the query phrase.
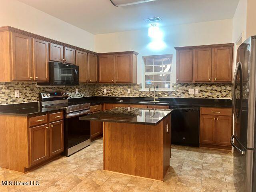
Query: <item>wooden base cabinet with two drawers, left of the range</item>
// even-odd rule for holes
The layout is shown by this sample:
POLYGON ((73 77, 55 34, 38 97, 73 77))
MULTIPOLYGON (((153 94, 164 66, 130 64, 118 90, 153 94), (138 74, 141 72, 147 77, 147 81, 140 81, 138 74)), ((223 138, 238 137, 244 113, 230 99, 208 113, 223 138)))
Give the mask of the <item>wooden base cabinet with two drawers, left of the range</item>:
POLYGON ((63 111, 38 116, 0 115, 2 168, 28 172, 64 151, 63 111))

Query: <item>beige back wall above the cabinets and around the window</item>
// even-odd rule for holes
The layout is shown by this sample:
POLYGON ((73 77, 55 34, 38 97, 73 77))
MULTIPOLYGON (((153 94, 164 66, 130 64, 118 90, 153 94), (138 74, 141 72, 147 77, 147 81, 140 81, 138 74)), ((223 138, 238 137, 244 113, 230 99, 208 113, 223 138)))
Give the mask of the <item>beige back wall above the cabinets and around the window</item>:
MULTIPOLYGON (((166 47, 153 50, 149 47, 151 39, 148 30, 125 31, 95 35, 96 52, 114 52, 134 50, 138 54, 138 83, 142 83, 142 56, 157 54, 173 54, 173 70, 175 80, 176 46, 193 46, 232 42, 232 19, 212 22, 201 22, 161 28, 166 47)), ((156 48, 157 46, 155 46, 156 48)))

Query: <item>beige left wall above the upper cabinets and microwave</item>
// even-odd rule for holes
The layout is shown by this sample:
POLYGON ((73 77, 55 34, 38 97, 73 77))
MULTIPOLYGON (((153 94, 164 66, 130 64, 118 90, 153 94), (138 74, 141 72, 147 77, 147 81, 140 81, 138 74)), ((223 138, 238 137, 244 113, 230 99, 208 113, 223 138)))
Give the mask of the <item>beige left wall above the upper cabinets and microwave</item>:
POLYGON ((94 36, 16 0, 0 0, 0 26, 12 26, 94 51, 94 36))

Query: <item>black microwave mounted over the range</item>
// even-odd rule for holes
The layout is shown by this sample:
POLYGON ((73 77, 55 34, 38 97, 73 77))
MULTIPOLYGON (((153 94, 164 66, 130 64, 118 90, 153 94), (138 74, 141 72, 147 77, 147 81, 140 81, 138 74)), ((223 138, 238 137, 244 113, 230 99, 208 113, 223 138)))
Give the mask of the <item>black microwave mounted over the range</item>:
POLYGON ((78 85, 79 67, 76 65, 49 62, 49 82, 38 85, 78 85))

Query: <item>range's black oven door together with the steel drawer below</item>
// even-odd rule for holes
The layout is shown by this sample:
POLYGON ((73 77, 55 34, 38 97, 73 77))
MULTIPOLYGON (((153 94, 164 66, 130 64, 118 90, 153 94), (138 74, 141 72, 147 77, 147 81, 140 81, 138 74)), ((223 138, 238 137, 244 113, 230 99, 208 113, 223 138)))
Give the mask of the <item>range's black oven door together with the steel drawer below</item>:
POLYGON ((90 145, 90 121, 79 120, 81 116, 88 114, 89 111, 84 110, 66 114, 64 130, 66 156, 70 156, 90 145))

